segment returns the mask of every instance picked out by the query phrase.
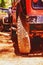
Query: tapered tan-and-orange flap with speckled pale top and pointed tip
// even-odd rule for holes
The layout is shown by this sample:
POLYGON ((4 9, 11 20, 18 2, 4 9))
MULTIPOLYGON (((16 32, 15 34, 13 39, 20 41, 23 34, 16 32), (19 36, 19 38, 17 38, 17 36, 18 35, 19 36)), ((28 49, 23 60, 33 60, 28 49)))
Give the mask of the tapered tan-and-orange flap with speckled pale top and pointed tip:
POLYGON ((24 29, 20 18, 17 22, 18 47, 21 53, 29 53, 31 50, 30 38, 24 29))

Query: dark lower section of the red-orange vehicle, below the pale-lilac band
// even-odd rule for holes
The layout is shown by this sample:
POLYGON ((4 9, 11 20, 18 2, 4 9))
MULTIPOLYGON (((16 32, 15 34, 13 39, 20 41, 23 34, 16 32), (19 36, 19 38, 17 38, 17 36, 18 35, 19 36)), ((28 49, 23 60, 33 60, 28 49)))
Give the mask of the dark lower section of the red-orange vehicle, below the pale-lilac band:
POLYGON ((30 40, 32 51, 43 51, 43 24, 30 25, 30 40))

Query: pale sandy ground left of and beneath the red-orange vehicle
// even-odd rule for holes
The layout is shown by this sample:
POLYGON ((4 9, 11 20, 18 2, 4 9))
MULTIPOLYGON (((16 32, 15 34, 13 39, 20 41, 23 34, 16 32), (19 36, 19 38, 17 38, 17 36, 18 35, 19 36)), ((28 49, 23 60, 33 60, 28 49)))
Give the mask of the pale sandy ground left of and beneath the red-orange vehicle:
POLYGON ((9 35, 0 33, 0 65, 8 65, 8 64, 9 65, 43 65, 43 57, 17 56, 14 53, 13 42, 10 39, 9 35))

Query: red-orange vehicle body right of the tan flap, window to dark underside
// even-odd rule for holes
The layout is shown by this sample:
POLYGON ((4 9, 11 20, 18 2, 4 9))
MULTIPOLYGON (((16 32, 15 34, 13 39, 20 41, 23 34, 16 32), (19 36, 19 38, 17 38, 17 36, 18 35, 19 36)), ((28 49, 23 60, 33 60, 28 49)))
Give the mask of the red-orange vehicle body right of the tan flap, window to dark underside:
POLYGON ((43 0, 26 0, 31 50, 43 51, 43 0))

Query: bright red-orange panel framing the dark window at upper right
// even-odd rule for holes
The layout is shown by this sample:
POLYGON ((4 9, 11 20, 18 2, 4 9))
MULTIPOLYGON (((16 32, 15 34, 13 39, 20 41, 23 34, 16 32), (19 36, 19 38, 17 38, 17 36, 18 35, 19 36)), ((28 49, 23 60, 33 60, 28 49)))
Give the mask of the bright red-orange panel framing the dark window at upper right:
POLYGON ((43 9, 33 9, 31 3, 32 0, 26 0, 27 15, 43 15, 43 9))

